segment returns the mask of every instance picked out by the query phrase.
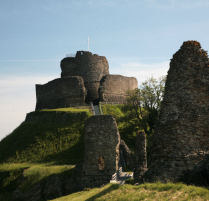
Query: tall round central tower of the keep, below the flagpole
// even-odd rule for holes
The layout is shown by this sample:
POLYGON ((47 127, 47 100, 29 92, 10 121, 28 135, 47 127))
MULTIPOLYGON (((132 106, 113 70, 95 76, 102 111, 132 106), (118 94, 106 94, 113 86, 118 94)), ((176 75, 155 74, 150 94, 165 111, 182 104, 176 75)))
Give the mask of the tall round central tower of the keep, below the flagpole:
POLYGON ((88 51, 77 51, 74 58, 64 58, 60 67, 61 77, 81 76, 88 91, 86 101, 99 99, 99 84, 103 76, 109 74, 109 64, 106 57, 92 54, 88 51))

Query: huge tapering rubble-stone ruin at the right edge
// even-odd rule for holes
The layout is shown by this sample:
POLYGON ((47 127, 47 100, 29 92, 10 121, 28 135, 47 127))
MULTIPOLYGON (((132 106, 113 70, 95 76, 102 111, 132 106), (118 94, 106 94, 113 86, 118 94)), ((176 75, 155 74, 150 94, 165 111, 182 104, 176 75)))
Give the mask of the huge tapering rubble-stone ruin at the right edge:
POLYGON ((197 41, 184 42, 170 62, 164 100, 144 180, 178 180, 209 150, 209 60, 197 41))

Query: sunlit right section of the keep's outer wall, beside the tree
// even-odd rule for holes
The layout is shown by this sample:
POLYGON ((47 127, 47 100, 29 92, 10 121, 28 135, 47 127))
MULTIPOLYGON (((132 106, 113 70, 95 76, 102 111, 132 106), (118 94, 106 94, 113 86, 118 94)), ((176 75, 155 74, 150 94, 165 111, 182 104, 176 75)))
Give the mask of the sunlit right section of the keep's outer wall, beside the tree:
POLYGON ((106 75, 102 78, 99 97, 102 102, 124 103, 127 90, 138 87, 137 79, 122 75, 106 75))

